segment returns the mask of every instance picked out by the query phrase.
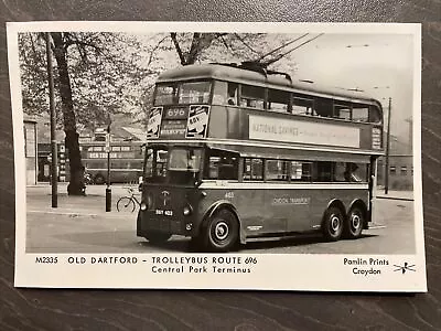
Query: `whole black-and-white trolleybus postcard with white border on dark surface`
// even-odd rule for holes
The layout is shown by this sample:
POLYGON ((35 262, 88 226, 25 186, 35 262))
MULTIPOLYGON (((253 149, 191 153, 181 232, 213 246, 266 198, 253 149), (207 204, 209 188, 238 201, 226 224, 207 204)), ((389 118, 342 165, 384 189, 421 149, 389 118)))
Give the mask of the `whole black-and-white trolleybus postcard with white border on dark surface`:
POLYGON ((419 24, 8 24, 15 286, 427 291, 419 24))

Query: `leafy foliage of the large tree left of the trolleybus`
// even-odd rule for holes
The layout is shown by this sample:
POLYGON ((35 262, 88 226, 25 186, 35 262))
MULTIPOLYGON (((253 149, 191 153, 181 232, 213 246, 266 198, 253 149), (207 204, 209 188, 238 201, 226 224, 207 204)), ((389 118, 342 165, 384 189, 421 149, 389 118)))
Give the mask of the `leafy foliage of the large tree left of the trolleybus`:
MULTIPOLYGON (((139 106, 138 90, 151 72, 142 68, 139 41, 122 33, 62 33, 72 83, 74 111, 86 127, 107 122, 109 114, 127 113, 139 106)), ((23 110, 49 111, 45 41, 40 33, 19 35, 23 110)), ((60 75, 54 65, 55 87, 60 75)), ((56 90, 56 109, 60 93, 56 90)), ((62 114, 58 114, 58 118, 62 114)))

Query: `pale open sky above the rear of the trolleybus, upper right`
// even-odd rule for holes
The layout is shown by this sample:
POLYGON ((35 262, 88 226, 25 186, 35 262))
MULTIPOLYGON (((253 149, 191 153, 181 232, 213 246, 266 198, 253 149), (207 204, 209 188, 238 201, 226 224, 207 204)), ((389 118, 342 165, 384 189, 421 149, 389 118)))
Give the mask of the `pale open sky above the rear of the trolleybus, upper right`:
POLYGON ((406 119, 412 116, 412 42, 408 34, 323 34, 292 53, 294 76, 362 89, 381 102, 385 120, 390 97, 390 132, 405 139, 409 135, 406 119))

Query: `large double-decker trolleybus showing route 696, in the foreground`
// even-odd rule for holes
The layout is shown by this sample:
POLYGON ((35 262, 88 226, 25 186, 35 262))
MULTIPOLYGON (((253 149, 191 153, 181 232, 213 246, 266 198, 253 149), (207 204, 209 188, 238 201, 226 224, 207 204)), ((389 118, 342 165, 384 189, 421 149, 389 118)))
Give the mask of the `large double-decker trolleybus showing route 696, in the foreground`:
POLYGON ((358 238, 380 154, 381 105, 359 92, 245 64, 171 70, 149 114, 137 235, 214 252, 313 231, 358 238))

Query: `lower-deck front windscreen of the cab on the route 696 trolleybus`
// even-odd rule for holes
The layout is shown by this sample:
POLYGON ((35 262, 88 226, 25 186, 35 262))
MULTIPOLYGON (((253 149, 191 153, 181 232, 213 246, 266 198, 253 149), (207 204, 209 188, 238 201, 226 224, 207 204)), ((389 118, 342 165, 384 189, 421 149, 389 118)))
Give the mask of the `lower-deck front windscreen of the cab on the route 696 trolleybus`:
POLYGON ((146 154, 144 181, 195 185, 198 181, 202 150, 197 148, 149 149, 146 154))

